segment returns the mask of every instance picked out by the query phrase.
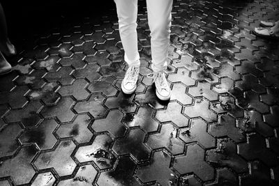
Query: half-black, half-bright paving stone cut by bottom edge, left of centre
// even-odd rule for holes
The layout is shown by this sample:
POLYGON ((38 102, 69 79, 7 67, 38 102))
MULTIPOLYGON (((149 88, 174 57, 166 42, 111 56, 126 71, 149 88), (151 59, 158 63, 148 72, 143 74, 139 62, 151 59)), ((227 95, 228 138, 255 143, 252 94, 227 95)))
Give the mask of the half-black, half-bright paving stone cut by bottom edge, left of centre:
POLYGON ((107 186, 136 186, 140 185, 133 172, 135 171, 135 163, 130 159, 130 157, 121 157, 114 171, 105 171, 100 173, 98 178, 98 185, 107 186))

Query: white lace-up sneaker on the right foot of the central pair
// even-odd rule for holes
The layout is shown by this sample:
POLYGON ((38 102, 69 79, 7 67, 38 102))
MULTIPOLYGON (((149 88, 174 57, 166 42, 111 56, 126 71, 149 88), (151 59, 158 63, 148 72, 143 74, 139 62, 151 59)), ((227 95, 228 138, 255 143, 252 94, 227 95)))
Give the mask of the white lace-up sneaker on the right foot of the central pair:
POLYGON ((155 82, 156 86, 156 95, 160 100, 169 100, 171 90, 169 85, 167 84, 167 79, 165 78, 165 72, 160 71, 153 73, 153 82, 155 82))

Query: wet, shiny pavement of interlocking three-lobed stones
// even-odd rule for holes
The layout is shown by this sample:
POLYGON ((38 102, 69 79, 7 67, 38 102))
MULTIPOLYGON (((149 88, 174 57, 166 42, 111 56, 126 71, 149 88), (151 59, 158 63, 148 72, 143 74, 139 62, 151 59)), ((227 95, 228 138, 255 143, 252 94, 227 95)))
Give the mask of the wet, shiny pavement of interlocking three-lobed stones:
POLYGON ((279 1, 174 1, 167 79, 156 98, 144 1, 140 79, 115 10, 50 28, 0 77, 0 185, 278 185, 279 41, 258 38, 279 1))

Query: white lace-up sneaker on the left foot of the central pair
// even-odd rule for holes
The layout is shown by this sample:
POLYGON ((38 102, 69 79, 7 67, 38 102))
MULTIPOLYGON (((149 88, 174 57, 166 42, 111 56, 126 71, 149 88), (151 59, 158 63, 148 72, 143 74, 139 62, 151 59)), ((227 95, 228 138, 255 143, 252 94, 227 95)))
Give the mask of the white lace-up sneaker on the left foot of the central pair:
POLYGON ((140 68, 130 66, 125 74, 125 77, 121 83, 121 89, 123 93, 131 94, 135 92, 137 88, 137 77, 139 76, 140 68))

